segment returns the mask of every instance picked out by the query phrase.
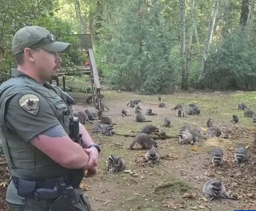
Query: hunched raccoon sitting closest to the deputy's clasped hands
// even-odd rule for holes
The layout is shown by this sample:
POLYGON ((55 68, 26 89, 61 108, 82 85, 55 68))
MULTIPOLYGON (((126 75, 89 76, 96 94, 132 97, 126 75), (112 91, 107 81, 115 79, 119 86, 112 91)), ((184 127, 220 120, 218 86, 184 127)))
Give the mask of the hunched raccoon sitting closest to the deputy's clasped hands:
POLYGON ((122 157, 110 155, 106 161, 107 171, 114 173, 125 169, 125 160, 122 157))

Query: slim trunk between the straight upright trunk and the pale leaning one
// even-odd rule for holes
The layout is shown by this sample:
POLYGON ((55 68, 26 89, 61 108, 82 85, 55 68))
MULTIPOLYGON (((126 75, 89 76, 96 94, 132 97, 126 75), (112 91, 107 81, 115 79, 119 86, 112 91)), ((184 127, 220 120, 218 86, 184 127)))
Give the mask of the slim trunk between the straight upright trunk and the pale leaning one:
POLYGON ((189 32, 189 42, 187 45, 187 58, 186 58, 186 69, 187 69, 187 78, 189 78, 189 72, 190 72, 190 55, 191 55, 191 46, 192 46, 192 41, 193 41, 193 33, 194 33, 194 28, 195 28, 195 14, 196 14, 196 5, 195 5, 195 0, 193 0, 192 3, 192 12, 191 12, 191 27, 190 27, 190 32, 189 32))

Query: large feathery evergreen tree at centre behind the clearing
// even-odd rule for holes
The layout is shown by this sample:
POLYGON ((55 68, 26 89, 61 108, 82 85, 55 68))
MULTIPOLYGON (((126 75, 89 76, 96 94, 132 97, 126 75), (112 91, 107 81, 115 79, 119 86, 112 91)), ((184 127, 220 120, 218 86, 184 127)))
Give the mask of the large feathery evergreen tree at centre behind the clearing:
POLYGON ((163 5, 158 1, 126 3, 115 11, 121 10, 118 24, 106 26, 109 33, 97 51, 103 76, 115 89, 172 92, 178 73, 170 57, 172 36, 161 17, 163 5))

